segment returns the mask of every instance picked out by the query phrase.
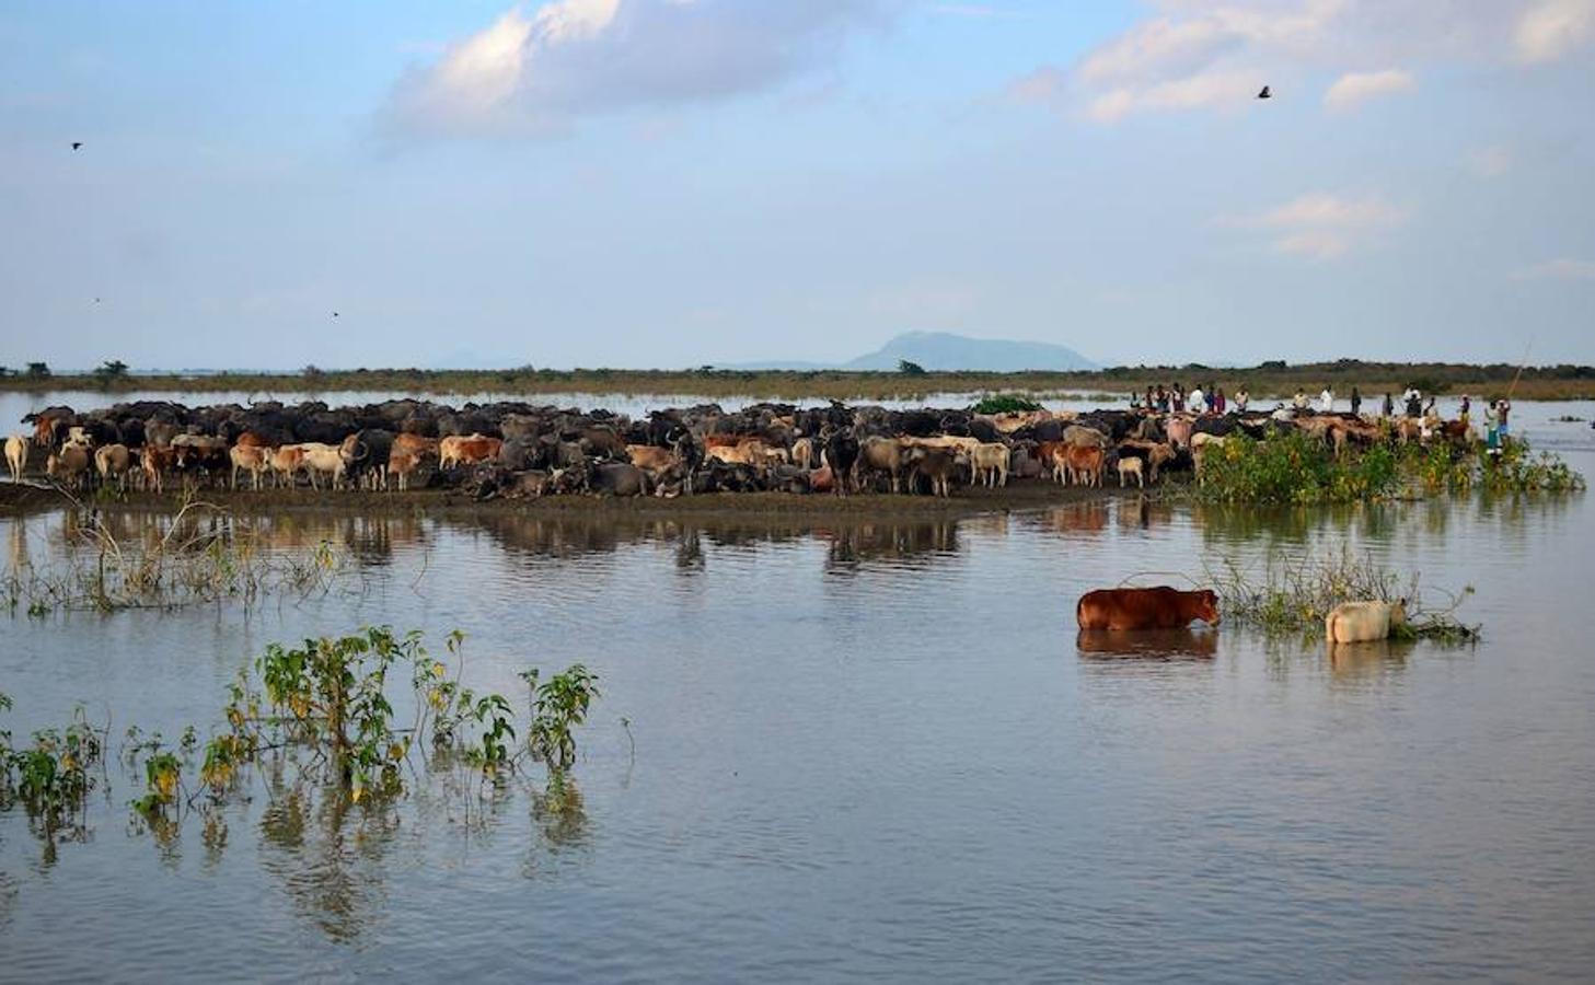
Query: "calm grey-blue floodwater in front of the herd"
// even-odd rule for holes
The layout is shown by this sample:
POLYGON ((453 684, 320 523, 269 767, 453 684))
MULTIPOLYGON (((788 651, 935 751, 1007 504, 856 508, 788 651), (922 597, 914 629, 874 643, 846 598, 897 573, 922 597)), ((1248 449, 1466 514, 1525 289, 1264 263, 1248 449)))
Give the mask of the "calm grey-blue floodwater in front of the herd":
MULTIPOLYGON (((1590 405, 1533 418, 1595 475, 1590 405)), ((1526 421, 1525 421, 1526 422, 1526 421)), ((1538 435, 1536 435, 1538 440, 1538 435)), ((59 564, 69 518, 0 518, 59 564)), ((107 516, 136 531, 148 518, 107 516)), ((1595 502, 815 518, 270 516, 357 569, 249 609, 0 615, 0 727, 220 725, 268 642, 459 628, 466 682, 585 661, 582 811, 421 787, 129 824, 0 813, 0 979, 1579 979, 1595 966, 1595 502), (1077 638, 1073 601, 1316 550, 1474 587, 1475 646, 1223 625, 1077 638), (1102 652, 1102 650, 1107 652, 1102 652), (628 722, 628 728, 622 725, 628 722), (635 749, 633 749, 635 740, 635 749), (466 810, 469 805, 469 810, 466 810)))

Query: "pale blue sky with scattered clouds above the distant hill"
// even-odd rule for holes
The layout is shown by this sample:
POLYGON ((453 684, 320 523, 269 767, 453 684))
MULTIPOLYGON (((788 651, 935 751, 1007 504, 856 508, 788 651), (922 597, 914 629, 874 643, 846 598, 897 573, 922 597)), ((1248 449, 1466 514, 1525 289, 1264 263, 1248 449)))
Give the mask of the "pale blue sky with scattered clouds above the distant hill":
POLYGON ((0 365, 1595 363, 1592 179, 1595 0, 6 0, 0 365))

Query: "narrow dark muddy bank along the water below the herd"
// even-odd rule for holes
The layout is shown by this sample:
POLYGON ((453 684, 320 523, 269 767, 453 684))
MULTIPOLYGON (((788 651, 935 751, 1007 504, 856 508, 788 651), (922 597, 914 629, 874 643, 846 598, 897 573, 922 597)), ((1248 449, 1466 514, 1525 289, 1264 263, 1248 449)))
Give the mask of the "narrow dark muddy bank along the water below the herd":
MULTIPOLYGON (((957 518, 976 513, 1040 510, 1078 502, 1102 502, 1120 496, 1137 496, 1140 489, 1105 486, 1101 489, 1059 486, 1056 483, 1021 480, 1006 488, 965 486, 947 499, 933 496, 901 496, 861 493, 853 496, 794 493, 705 493, 660 499, 654 496, 550 496, 542 499, 474 499, 459 489, 423 489, 412 493, 365 493, 327 489, 199 489, 190 497, 179 493, 93 494, 73 499, 46 485, 0 481, 0 513, 59 510, 80 502, 107 510, 144 510, 172 513, 183 502, 204 502, 234 513, 300 513, 300 515, 523 515, 585 518, 957 518)), ((1164 489, 1147 489, 1147 496, 1163 496, 1164 489)))

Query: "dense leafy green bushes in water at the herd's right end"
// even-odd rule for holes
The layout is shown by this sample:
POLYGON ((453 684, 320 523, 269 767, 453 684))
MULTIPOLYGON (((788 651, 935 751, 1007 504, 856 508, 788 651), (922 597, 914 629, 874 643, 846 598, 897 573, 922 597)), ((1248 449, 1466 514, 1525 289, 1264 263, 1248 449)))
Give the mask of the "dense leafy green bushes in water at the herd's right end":
POLYGON ((1423 497, 1437 493, 1569 493, 1584 477, 1550 453, 1512 440, 1499 454, 1482 445, 1378 441, 1341 454, 1305 432, 1266 440, 1231 435, 1203 449, 1195 494, 1209 502, 1321 504, 1423 497))

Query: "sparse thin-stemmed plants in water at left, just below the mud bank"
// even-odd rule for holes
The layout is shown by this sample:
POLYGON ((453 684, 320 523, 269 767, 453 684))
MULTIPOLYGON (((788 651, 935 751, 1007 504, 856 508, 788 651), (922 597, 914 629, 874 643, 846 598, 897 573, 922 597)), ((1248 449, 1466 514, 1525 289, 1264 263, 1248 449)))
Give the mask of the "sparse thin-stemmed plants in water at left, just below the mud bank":
POLYGON ((48 569, 13 564, 0 579, 0 602, 29 615, 247 604, 273 593, 325 593, 352 571, 330 540, 274 548, 255 524, 209 504, 142 520, 144 529, 118 534, 97 512, 70 513, 61 559, 48 569))

